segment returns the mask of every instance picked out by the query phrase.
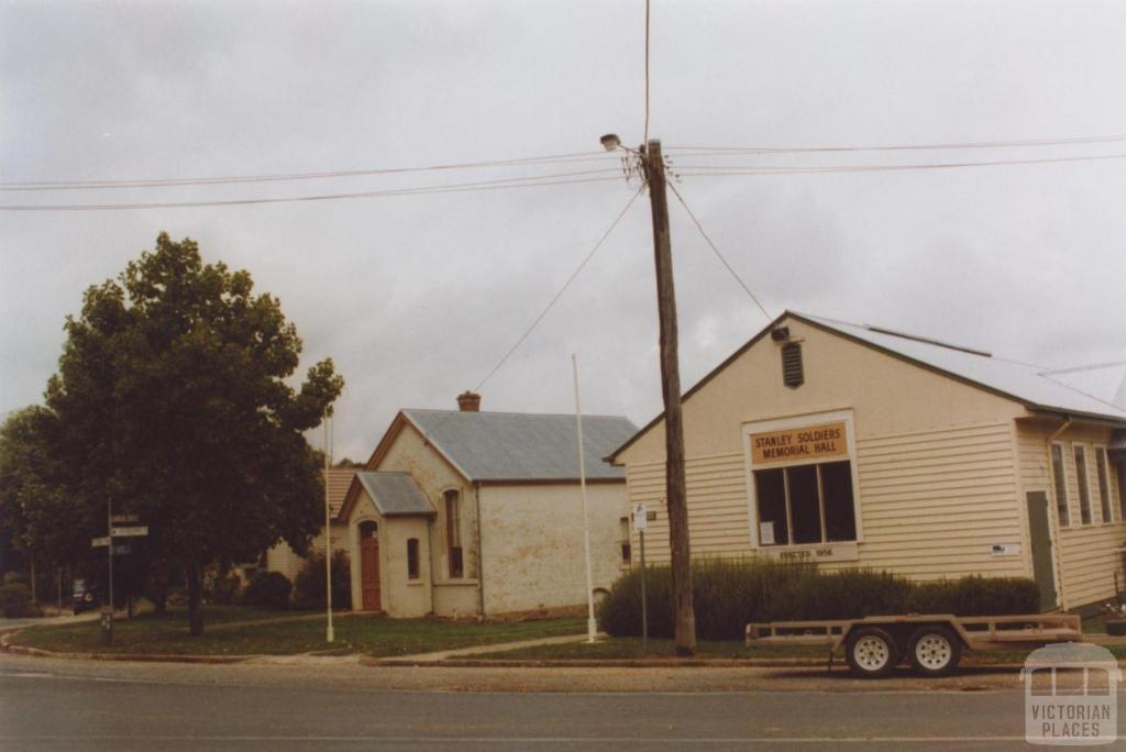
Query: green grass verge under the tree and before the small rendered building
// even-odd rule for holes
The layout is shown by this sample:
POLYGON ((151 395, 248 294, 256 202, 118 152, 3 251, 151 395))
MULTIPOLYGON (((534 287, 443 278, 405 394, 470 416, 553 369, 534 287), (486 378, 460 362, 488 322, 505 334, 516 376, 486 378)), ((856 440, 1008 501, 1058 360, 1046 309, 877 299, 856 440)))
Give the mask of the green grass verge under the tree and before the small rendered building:
POLYGON ((336 641, 324 642, 322 619, 292 619, 277 624, 234 625, 305 611, 268 611, 238 606, 209 606, 204 615, 204 635, 188 635, 187 611, 176 609, 168 617, 144 615, 132 621, 114 621, 114 644, 102 647, 97 621, 43 626, 25 629, 11 643, 50 651, 78 653, 143 653, 177 655, 289 655, 295 653, 374 656, 410 655, 474 645, 581 634, 581 618, 476 624, 438 619, 388 619, 373 616, 338 617, 336 641))

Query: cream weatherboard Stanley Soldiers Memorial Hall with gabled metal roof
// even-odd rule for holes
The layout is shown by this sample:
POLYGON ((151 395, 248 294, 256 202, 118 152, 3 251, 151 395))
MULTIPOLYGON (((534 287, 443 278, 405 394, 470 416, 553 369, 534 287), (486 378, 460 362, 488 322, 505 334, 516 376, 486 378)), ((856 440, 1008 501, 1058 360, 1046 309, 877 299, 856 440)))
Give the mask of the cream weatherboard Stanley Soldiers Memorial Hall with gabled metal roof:
MULTIPOLYGON (((988 352, 787 312, 685 394, 692 555, 1024 576, 1044 610, 1105 600, 1126 587, 1124 402, 1126 383, 1097 394, 988 352)), ((609 457, 629 503, 656 511, 658 562, 663 428, 659 415, 609 457)))

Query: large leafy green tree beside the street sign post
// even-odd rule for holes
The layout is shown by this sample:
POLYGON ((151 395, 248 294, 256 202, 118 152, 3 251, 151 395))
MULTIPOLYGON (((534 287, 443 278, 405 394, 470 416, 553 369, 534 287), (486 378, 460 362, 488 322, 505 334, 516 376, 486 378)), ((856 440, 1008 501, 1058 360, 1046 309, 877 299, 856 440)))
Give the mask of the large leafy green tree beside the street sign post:
POLYGON ((86 292, 47 387, 70 490, 149 526, 146 548, 184 570, 191 634, 203 633, 204 567, 279 539, 303 553, 323 522, 319 455, 303 431, 343 379, 327 359, 300 388, 287 384, 301 339, 278 299, 252 289, 247 271, 204 263, 194 241, 161 233, 118 279, 86 292))

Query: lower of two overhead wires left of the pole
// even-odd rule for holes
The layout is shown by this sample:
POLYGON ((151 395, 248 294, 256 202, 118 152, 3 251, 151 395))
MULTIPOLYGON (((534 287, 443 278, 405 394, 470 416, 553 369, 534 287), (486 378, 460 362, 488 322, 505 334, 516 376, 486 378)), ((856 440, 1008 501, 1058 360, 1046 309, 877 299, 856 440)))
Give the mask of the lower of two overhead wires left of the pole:
POLYGON ((252 206, 259 204, 295 204, 301 202, 328 202, 348 198, 385 198, 392 196, 429 196, 432 194, 459 194, 476 193, 484 190, 501 190, 506 188, 536 188, 540 186, 573 186, 584 182, 607 182, 617 181, 618 177, 589 177, 597 173, 613 172, 617 176, 620 170, 610 168, 605 170, 586 170, 581 172, 562 172, 555 174, 529 176, 526 178, 502 178, 498 180, 479 180, 475 182, 448 183, 439 186, 419 186, 413 188, 391 188, 386 190, 366 190, 350 194, 321 194, 315 196, 278 196, 268 198, 231 198, 221 200, 199 202, 160 202, 150 204, 16 204, 0 205, 2 212, 110 212, 127 209, 159 209, 159 208, 198 208, 207 206, 252 206))

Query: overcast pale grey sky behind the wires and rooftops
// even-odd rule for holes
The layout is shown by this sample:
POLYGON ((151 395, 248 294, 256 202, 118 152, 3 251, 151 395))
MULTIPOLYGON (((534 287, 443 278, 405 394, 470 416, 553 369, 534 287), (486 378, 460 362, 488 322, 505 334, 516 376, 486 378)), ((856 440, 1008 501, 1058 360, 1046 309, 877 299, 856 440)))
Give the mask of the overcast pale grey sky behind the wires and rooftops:
MULTIPOLYGON (((2 191, 0 204, 309 196, 618 167, 643 138, 644 2, 0 2, 0 181, 582 162, 234 186, 2 191)), ((1126 134, 1126 3, 653 0, 650 135, 683 172, 1126 154, 1126 141, 690 156, 1126 134)), ((613 176, 597 173, 595 177, 613 176)), ((0 410, 41 402, 82 290, 157 234, 251 271, 347 379, 336 455, 400 408, 453 408, 628 202, 624 180, 116 212, 0 212, 0 410)), ((1126 358, 1126 160, 685 176, 678 189, 775 315, 874 323, 1049 367, 1126 358)), ((766 323, 674 199, 682 382, 766 323)), ((642 424, 660 409, 638 199, 484 386, 486 410, 642 424)))

